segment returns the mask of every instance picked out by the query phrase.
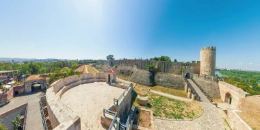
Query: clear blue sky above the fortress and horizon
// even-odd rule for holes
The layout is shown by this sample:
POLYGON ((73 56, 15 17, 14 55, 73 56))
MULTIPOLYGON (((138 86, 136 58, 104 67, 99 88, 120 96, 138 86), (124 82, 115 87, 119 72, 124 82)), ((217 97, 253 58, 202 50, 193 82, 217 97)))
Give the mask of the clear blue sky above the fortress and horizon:
POLYGON ((0 1, 0 57, 105 59, 168 55, 260 70, 260 1, 0 1))

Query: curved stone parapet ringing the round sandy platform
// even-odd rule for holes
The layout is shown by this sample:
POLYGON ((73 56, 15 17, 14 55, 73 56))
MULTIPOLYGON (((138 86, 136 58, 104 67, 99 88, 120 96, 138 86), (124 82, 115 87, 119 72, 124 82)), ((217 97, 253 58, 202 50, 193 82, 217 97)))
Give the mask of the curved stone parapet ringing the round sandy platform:
MULTIPOLYGON (((81 129, 81 119, 79 116, 73 113, 73 111, 67 107, 61 101, 62 94, 64 94, 70 88, 78 86, 82 83, 92 83, 92 82, 114 82, 116 81, 116 75, 113 73, 88 73, 82 75, 73 75, 55 81, 47 89, 46 100, 48 107, 48 114, 51 121, 52 127, 57 129, 81 129)), ((113 84, 112 84, 113 85, 113 84)), ((127 88, 126 86, 114 84, 118 88, 127 88)), ((119 101, 119 105, 112 107, 115 112, 118 112, 118 117, 120 114, 125 114, 126 109, 129 109, 127 106, 131 105, 131 90, 124 92, 124 98, 119 101), (129 96, 130 95, 130 96, 129 96), (130 97, 130 98, 129 98, 130 97), (127 100, 125 98, 129 98, 127 100), (128 103, 129 102, 129 103, 128 103)), ((113 102, 113 101, 112 101, 113 102)))

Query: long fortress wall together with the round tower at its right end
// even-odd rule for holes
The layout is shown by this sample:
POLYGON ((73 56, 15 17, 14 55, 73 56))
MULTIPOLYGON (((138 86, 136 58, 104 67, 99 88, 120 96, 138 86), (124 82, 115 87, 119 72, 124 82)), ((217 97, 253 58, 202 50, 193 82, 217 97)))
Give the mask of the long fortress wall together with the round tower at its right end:
POLYGON ((189 74, 212 99, 220 99, 218 78, 215 76, 216 47, 200 49, 200 61, 164 62, 154 60, 111 60, 109 66, 117 66, 117 74, 144 86, 164 86, 184 89, 183 77, 189 74), (146 65, 155 66, 156 72, 147 70, 146 65))

